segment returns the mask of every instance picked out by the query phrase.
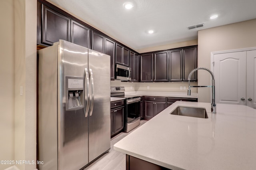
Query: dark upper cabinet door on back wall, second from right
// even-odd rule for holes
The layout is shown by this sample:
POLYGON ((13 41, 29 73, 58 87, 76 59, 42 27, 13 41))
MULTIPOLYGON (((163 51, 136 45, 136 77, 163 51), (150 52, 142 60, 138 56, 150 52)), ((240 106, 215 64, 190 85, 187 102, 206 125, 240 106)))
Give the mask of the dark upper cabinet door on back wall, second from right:
POLYGON ((182 49, 170 51, 170 81, 182 81, 182 49))

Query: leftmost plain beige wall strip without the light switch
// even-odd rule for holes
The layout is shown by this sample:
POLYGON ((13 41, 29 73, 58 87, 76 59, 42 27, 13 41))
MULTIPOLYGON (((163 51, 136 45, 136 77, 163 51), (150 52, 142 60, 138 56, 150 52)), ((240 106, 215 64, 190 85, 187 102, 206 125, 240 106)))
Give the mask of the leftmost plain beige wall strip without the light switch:
MULTIPOLYGON (((14 160, 14 8, 0 1, 0 160, 14 160)), ((0 164, 0 169, 10 165, 0 164)))

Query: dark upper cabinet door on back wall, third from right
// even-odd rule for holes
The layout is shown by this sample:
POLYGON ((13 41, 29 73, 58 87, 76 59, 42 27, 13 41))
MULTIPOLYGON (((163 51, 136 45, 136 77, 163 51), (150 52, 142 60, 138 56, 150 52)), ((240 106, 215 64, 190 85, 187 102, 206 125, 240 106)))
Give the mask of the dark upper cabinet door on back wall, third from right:
POLYGON ((168 81, 168 51, 154 53, 154 81, 168 81))

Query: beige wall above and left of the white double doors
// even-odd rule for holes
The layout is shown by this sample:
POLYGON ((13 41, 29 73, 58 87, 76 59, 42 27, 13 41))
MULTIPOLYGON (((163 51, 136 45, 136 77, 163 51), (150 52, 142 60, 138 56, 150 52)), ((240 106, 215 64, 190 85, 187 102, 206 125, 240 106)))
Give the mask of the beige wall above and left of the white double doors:
MULTIPOLYGON (((256 47, 256 19, 198 31, 198 67, 211 67, 211 52, 256 47)), ((198 85, 209 85, 210 74, 198 71, 198 85)), ((198 89, 199 102, 210 101, 211 89, 198 89)))

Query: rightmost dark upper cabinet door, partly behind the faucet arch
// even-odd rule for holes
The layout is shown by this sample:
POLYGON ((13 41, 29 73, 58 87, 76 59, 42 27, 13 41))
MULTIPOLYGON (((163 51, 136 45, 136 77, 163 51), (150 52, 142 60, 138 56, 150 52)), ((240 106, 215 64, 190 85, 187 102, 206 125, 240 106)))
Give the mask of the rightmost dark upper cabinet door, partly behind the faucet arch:
MULTIPOLYGON (((197 68, 197 48, 183 49, 183 80, 188 80, 189 73, 197 68)), ((191 81, 197 81, 197 72, 191 76, 191 81)))

